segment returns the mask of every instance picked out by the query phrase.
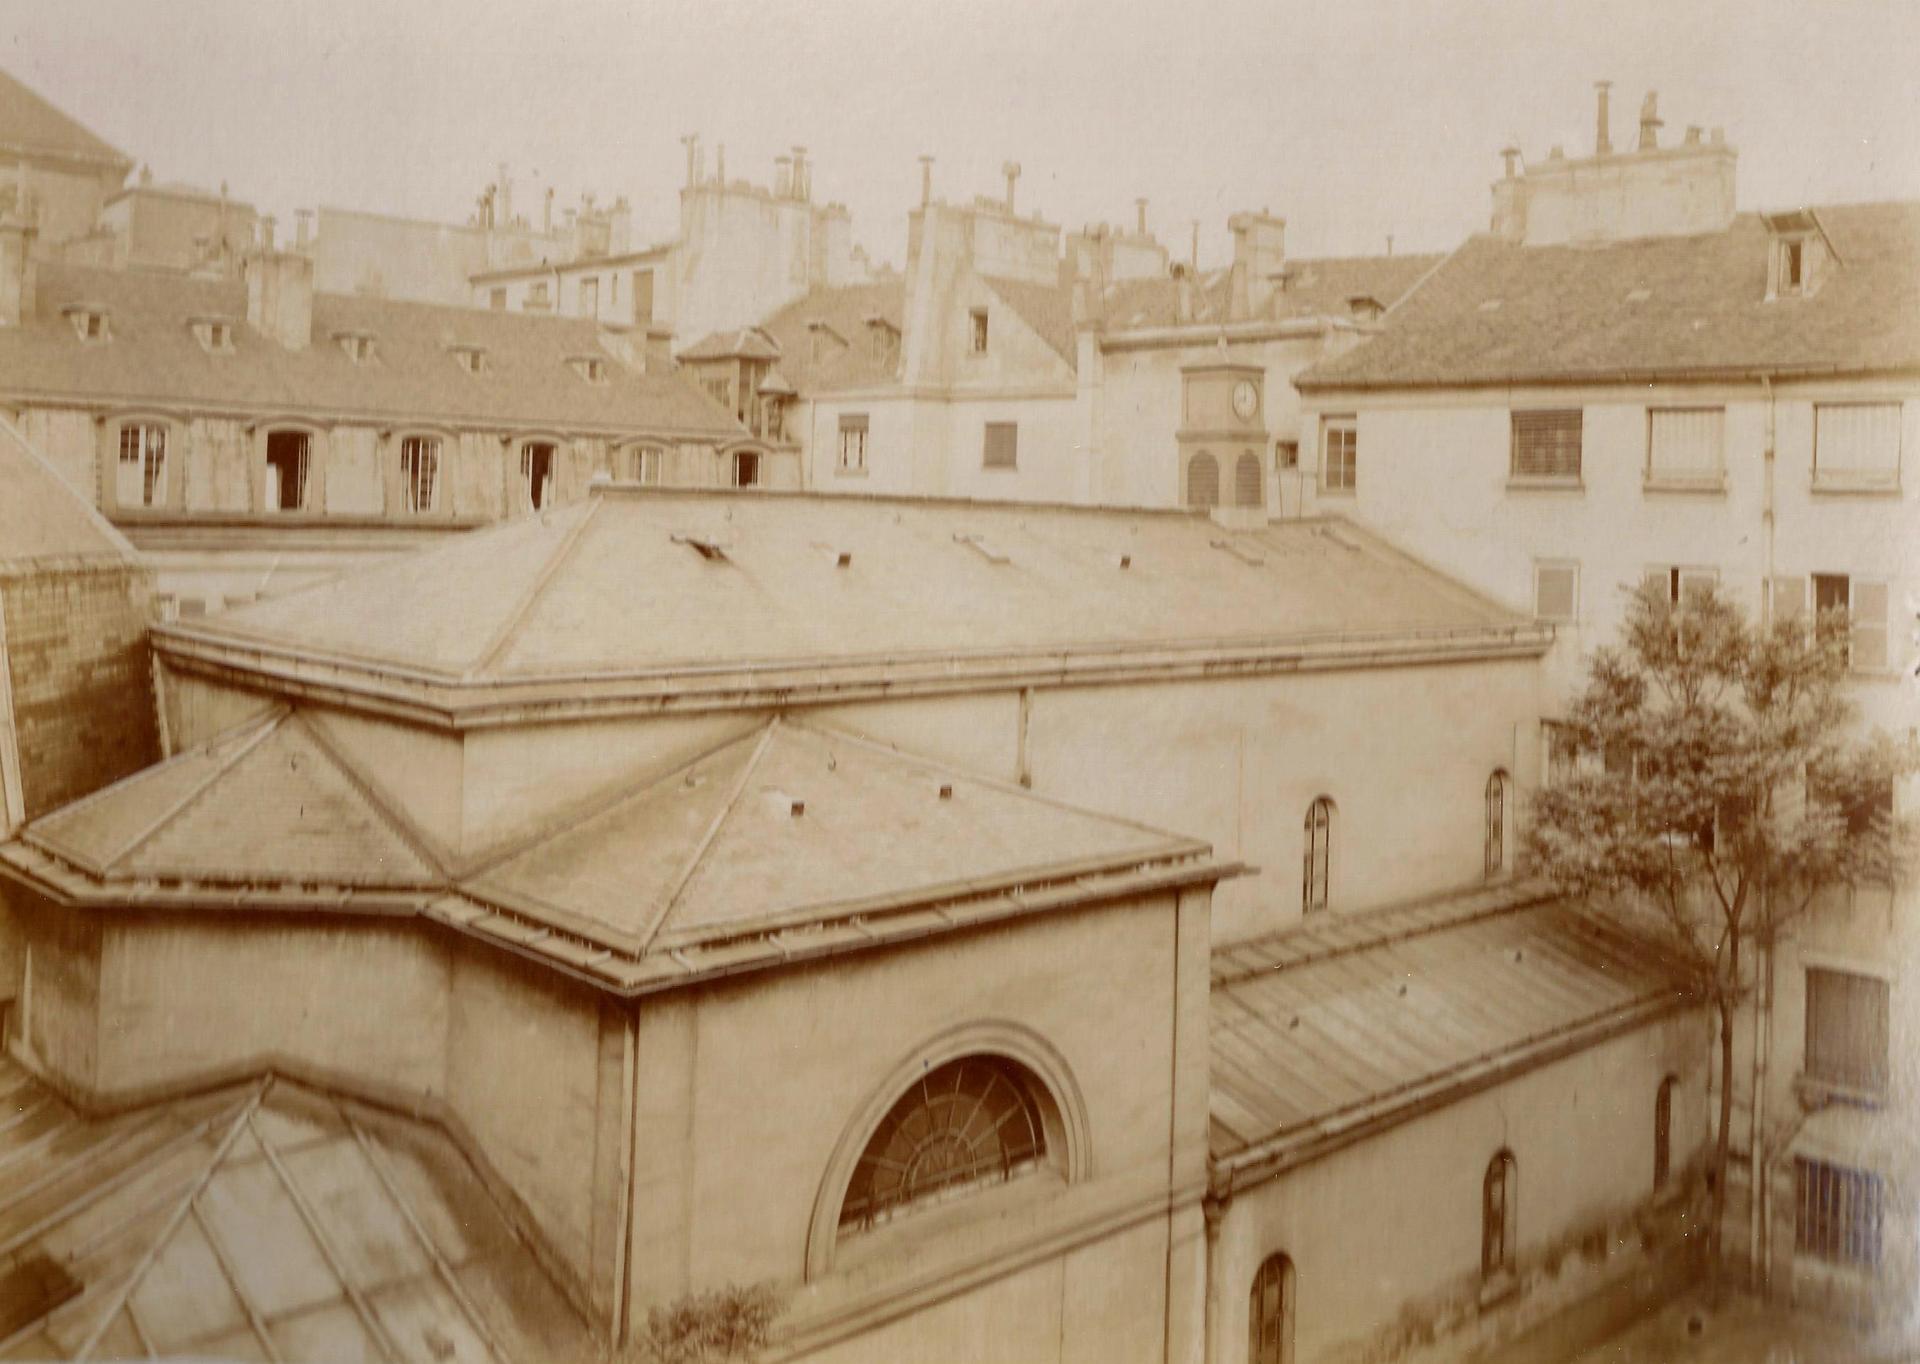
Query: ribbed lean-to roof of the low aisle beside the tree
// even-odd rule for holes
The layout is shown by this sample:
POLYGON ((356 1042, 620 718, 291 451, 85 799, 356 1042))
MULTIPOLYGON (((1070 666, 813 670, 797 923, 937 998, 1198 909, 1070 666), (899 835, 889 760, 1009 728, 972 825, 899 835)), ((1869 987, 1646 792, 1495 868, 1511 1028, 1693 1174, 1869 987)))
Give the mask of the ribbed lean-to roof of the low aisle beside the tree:
POLYGON ((1638 938, 1528 886, 1213 952, 1215 1182, 1693 1003, 1638 938))

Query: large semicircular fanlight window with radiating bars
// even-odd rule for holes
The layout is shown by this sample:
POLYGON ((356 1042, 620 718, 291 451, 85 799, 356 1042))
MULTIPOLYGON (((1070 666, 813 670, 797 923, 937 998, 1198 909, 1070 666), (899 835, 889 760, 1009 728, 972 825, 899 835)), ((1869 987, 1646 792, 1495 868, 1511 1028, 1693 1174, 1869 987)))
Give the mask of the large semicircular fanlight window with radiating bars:
POLYGON ((1039 1170, 1048 1159, 1041 1086, 993 1055, 948 1061, 887 1111, 847 1182, 839 1230, 862 1232, 1039 1170))

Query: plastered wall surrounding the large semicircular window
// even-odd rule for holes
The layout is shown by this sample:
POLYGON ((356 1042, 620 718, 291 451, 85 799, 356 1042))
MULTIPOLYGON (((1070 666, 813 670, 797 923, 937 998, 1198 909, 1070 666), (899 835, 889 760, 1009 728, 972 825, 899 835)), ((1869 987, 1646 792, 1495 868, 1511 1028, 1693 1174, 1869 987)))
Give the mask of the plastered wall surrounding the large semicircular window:
POLYGON ((1162 1358, 1169 1170, 1183 1222, 1204 1174, 1206 940, 1204 892, 1164 894, 643 1001, 634 1320, 689 1289, 772 1282, 806 1358, 952 1358, 966 1339, 1000 1358, 1162 1358), (810 1272, 816 1218, 839 1216, 820 1203, 835 1153, 866 1140, 856 1115, 877 1120, 916 1057, 1014 1036, 1069 1076, 1079 1178, 841 1237, 810 1272))

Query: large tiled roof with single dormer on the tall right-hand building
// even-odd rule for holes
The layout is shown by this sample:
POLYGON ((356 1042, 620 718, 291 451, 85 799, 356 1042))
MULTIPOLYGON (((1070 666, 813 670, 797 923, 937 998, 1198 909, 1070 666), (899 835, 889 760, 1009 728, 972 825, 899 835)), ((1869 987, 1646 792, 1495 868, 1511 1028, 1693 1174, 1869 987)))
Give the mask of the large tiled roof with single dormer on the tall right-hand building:
POLYGON ((1605 246, 1469 240, 1380 336, 1300 388, 1630 380, 1920 366, 1920 203, 1816 209, 1839 267, 1812 297, 1766 299, 1768 232, 1605 246))

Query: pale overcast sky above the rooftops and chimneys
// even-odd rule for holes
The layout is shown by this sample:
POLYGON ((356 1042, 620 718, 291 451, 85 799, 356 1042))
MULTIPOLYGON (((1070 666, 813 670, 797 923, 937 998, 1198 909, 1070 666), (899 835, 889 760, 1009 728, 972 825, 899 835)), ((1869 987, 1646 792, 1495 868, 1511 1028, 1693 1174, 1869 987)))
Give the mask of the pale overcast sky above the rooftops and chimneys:
MULTIPOLYGON (((1227 251, 1265 207, 1294 255, 1446 249, 1486 226, 1498 152, 1722 125, 1741 207, 1920 198, 1916 0, 0 0, 0 65, 156 178, 263 211, 465 221, 495 163, 518 211, 626 194, 672 236, 682 134, 814 198, 899 263, 935 192, 1227 251), (524 205, 524 207, 522 207, 524 205)), ((708 157, 712 152, 708 152, 708 157)), ((710 161, 708 161, 710 165, 710 161)))

